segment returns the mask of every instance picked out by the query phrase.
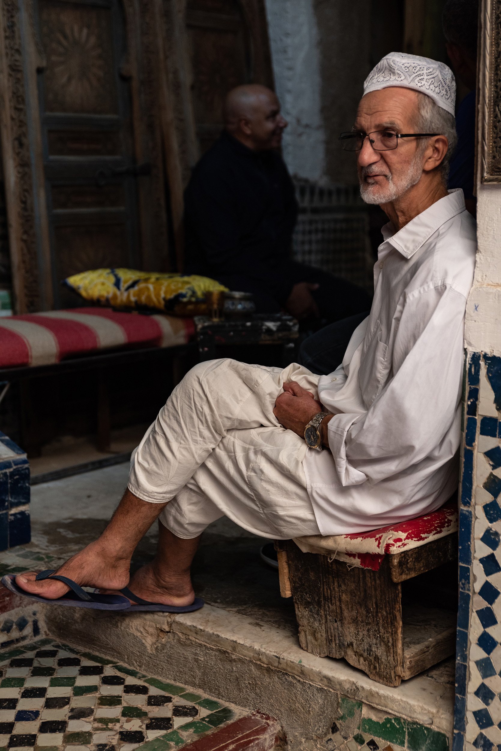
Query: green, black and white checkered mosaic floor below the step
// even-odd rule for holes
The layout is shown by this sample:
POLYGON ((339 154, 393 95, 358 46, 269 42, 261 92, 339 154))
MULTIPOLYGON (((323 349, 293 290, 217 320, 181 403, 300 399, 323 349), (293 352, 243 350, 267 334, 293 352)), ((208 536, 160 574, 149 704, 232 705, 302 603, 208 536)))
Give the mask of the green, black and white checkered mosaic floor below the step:
POLYGON ((0 653, 0 751, 170 751, 245 714, 52 639, 0 653))

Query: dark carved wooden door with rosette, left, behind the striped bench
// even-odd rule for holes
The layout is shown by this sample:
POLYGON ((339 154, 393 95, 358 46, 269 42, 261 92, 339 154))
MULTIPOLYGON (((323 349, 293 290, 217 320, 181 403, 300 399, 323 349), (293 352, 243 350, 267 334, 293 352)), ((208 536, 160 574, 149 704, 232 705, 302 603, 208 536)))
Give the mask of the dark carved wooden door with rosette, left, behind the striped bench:
POLYGON ((38 100, 55 307, 81 304, 61 280, 140 267, 137 179, 118 0, 37 0, 45 54, 38 100))

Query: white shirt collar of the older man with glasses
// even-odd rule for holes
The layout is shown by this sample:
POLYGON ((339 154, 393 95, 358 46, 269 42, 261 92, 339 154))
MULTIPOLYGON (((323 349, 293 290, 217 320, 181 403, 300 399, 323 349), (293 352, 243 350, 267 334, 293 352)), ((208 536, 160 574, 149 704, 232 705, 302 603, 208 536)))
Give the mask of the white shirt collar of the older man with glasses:
POLYGON ((439 227, 462 211, 466 211, 463 191, 460 188, 450 190, 449 195, 431 204, 398 232, 392 231, 390 223, 385 225, 381 230, 384 241, 392 243, 405 258, 411 258, 439 227))

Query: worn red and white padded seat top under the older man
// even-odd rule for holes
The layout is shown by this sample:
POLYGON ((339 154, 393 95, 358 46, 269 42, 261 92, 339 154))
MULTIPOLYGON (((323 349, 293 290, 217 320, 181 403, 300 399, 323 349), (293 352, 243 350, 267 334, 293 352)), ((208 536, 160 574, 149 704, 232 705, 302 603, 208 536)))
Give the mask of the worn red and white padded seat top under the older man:
POLYGON ((303 553, 323 553, 338 560, 378 571, 386 555, 403 553, 458 532, 458 500, 453 497, 431 514, 400 524, 351 535, 311 535, 294 541, 303 553))

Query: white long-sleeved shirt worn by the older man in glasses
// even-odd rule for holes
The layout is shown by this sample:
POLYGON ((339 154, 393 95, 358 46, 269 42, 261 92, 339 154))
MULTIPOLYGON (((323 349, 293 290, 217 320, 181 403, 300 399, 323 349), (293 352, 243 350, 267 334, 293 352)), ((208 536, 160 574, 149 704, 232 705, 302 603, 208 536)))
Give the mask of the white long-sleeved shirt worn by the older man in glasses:
POLYGON ((475 220, 455 190, 383 237, 371 315, 319 382, 332 453, 310 449, 303 467, 323 535, 434 511, 458 485, 475 220))

